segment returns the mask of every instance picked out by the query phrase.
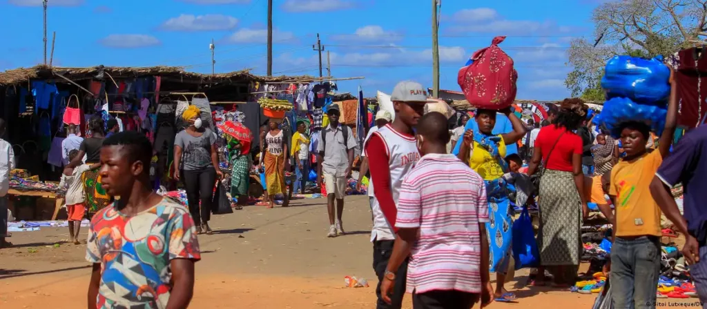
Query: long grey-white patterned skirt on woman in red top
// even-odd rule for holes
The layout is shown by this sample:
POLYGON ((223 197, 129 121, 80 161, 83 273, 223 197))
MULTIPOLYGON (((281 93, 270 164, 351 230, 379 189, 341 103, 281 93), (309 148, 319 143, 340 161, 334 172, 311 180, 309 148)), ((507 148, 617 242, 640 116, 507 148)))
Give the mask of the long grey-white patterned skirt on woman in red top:
POLYGON ((543 266, 579 265, 582 205, 569 171, 546 169, 540 178, 537 245, 543 266))

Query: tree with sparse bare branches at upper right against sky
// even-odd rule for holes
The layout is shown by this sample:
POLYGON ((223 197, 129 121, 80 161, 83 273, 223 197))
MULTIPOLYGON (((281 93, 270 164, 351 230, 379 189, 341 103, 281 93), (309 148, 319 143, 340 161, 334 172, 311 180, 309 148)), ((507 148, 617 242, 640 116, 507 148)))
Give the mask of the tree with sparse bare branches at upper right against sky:
POLYGON ((598 39, 570 42, 565 85, 573 97, 603 100, 604 66, 617 55, 671 55, 707 30, 707 0, 619 0, 594 9, 598 39))

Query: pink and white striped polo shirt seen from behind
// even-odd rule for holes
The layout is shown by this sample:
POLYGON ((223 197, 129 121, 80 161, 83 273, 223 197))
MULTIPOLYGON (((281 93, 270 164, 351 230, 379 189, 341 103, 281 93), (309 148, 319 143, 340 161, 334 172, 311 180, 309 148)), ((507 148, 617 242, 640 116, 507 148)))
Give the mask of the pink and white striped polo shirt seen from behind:
POLYGON ((489 204, 481 176, 452 154, 422 157, 402 183, 395 223, 420 229, 407 291, 481 293, 483 222, 489 222, 489 204))

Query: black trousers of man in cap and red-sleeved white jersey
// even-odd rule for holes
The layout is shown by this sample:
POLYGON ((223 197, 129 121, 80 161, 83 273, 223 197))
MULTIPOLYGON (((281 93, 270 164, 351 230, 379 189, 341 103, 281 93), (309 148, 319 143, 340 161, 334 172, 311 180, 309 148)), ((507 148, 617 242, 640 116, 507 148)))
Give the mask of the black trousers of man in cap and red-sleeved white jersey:
POLYGON ((388 267, 390 255, 393 253, 393 243, 395 243, 395 241, 373 242, 373 270, 375 270, 375 275, 378 276, 378 286, 375 287, 375 295, 378 296, 378 302, 375 308, 378 309, 400 309, 402 307, 402 298, 405 296, 408 259, 405 259, 397 272, 395 272, 395 287, 390 296, 392 304, 388 305, 380 298, 380 284, 383 281, 385 269, 388 267))

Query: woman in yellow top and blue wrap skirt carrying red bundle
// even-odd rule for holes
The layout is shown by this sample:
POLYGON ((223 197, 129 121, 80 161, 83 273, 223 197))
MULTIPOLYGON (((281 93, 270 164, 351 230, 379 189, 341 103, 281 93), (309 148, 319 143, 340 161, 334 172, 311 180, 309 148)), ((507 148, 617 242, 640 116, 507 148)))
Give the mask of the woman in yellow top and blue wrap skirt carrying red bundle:
POLYGON ((503 288, 510 262, 511 231, 513 221, 510 217, 508 188, 503 181, 503 174, 508 172, 506 163, 506 145, 516 143, 525 136, 525 125, 510 108, 500 112, 505 114, 513 125, 513 132, 493 135, 496 126, 496 113, 490 109, 477 109, 474 120, 479 132, 472 130, 464 133, 464 141, 458 154, 459 159, 479 173, 486 182, 486 198, 489 199, 489 222, 486 230, 493 237, 489 241, 491 271, 496 272, 496 301, 513 301, 515 295, 503 288))

